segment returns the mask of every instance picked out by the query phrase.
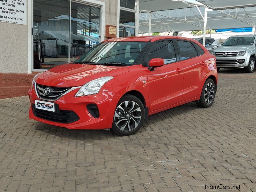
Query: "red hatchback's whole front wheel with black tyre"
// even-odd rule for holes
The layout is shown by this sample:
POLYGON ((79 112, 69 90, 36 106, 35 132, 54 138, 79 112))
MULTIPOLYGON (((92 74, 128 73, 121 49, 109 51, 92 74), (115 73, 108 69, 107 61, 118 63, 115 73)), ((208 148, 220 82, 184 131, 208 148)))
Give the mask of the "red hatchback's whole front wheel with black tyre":
POLYGON ((124 95, 117 103, 111 131, 127 136, 136 133, 145 119, 143 103, 135 96, 124 95))

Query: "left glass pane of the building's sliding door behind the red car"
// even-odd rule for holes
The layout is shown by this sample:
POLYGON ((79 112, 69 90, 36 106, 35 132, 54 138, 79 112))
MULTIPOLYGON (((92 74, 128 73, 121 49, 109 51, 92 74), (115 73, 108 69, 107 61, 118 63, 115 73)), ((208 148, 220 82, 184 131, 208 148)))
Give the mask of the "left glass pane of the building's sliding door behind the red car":
POLYGON ((34 0, 33 69, 50 69, 68 63, 68 53, 69 1, 34 0))

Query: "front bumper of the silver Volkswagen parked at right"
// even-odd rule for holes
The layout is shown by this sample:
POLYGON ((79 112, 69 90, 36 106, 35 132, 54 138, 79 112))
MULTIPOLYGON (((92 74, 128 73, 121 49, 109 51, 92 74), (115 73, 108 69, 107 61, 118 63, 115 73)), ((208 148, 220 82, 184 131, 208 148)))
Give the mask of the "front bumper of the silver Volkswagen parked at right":
POLYGON ((248 66, 245 56, 239 57, 216 57, 216 66, 220 68, 244 68, 248 66))

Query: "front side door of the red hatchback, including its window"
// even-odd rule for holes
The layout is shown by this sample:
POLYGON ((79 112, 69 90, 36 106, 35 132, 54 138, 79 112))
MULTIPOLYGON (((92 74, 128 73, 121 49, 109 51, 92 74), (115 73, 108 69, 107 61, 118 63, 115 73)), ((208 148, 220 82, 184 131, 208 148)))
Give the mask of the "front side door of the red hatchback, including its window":
POLYGON ((148 97, 150 111, 174 105, 182 100, 183 66, 178 62, 174 42, 160 41, 152 44, 148 61, 164 59, 164 66, 148 70, 148 97))

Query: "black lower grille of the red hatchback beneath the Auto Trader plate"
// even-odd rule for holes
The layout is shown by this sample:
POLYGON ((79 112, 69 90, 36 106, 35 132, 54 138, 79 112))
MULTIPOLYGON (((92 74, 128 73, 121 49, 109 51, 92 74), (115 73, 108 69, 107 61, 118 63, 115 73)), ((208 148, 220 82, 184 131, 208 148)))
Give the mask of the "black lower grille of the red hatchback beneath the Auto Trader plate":
POLYGON ((57 112, 45 111, 36 109, 35 104, 32 104, 33 113, 36 117, 57 123, 73 123, 79 120, 79 117, 74 111, 59 110, 58 105, 55 104, 57 112))

